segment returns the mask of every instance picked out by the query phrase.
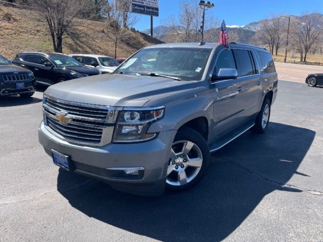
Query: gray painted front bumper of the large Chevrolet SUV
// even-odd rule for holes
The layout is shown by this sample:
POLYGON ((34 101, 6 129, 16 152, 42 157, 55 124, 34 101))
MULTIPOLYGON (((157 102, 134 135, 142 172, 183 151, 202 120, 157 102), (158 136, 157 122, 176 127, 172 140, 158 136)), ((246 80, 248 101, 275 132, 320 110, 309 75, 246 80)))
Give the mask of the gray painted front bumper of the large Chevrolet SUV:
POLYGON ((160 132, 154 140, 136 144, 89 147, 60 140, 40 124, 38 138, 46 153, 56 150, 68 155, 74 172, 90 176, 124 192, 157 196, 164 193, 168 160, 175 131, 160 132), (139 178, 115 177, 111 170, 144 168, 139 178))

